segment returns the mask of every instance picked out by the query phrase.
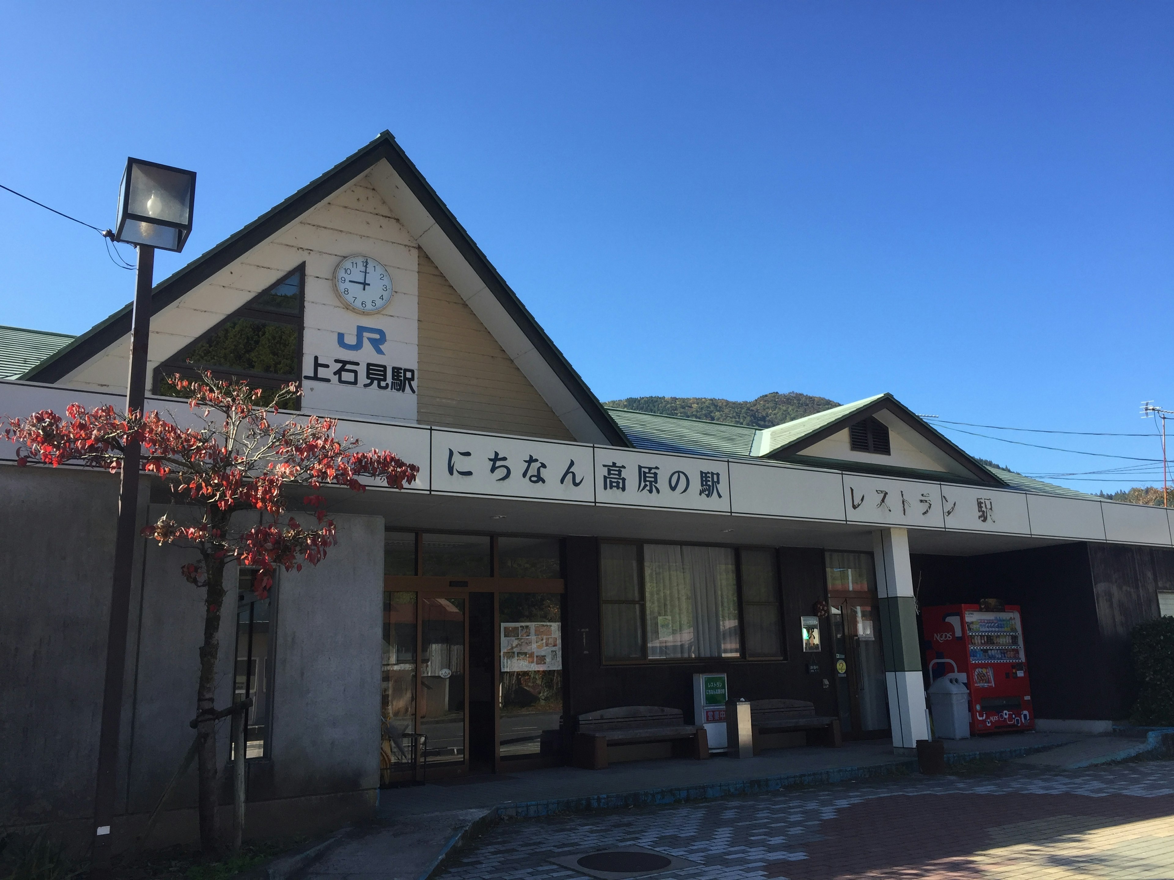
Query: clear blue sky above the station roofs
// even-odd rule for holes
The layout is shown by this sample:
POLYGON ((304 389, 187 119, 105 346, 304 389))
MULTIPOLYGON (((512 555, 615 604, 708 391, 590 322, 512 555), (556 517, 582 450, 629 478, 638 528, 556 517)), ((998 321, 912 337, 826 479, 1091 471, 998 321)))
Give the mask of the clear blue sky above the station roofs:
MULTIPOLYGON (((1147 2, 9 4, 0 183, 104 228, 128 155, 197 170, 162 277, 386 128, 601 399, 1145 432, 1140 400, 1174 408, 1172 45, 1147 2)), ((0 324, 129 300, 93 231, 5 192, 0 228, 0 324)))

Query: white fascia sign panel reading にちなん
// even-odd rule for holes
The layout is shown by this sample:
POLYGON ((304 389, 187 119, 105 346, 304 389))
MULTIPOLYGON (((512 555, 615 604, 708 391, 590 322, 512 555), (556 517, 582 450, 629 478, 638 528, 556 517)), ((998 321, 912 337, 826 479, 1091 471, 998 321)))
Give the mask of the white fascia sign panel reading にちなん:
POLYGON ((589 446, 432 432, 432 488, 440 492, 591 503, 591 471, 589 446))

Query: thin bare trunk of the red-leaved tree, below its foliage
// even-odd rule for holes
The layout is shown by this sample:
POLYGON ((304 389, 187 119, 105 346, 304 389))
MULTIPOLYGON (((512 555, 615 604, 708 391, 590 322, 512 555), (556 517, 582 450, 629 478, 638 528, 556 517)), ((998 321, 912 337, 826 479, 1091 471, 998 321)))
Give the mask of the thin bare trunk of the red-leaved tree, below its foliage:
MULTIPOLYGON (((196 715, 211 716, 216 710, 216 659, 220 656, 221 612, 224 607, 224 560, 204 557, 208 595, 204 598, 204 643, 200 648, 200 686, 196 690, 196 715)), ((207 854, 220 852, 216 808, 220 801, 216 761, 216 722, 197 726, 200 769, 200 846, 207 854)))

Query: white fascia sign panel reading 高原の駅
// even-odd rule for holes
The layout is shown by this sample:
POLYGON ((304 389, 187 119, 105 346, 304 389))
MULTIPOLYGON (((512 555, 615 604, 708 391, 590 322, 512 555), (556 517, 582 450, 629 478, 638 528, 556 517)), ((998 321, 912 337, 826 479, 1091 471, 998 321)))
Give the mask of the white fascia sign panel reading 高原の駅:
POLYGON ((729 513, 729 467, 714 459, 596 448, 595 501, 729 513))

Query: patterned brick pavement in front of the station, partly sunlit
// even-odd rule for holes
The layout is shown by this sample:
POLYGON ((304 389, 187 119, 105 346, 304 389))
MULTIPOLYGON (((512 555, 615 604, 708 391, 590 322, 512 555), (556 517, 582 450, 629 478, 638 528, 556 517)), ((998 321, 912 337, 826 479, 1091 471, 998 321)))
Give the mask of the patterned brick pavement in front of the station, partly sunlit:
POLYGON ((575 880, 548 860, 628 845, 700 862, 662 880, 1174 879, 1174 761, 1005 766, 511 820, 440 876, 575 880))

